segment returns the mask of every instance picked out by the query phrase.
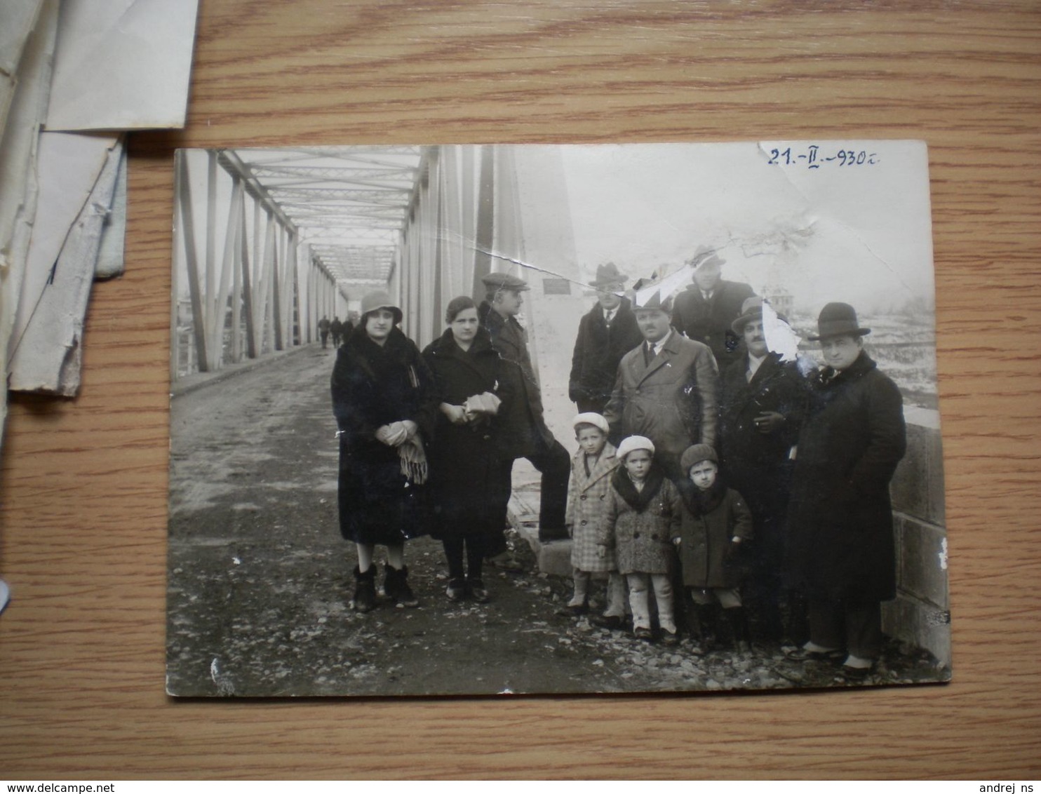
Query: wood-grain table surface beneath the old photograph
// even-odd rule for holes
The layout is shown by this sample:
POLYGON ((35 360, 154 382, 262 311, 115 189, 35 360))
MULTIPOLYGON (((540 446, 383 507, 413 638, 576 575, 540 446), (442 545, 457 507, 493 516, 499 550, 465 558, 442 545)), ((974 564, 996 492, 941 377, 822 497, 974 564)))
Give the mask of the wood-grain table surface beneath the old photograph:
POLYGON ((184 131, 131 138, 78 399, 15 398, 0 777, 1038 777, 1041 5, 202 0, 184 131), (722 696, 163 694, 173 151, 923 138, 954 683, 722 696))

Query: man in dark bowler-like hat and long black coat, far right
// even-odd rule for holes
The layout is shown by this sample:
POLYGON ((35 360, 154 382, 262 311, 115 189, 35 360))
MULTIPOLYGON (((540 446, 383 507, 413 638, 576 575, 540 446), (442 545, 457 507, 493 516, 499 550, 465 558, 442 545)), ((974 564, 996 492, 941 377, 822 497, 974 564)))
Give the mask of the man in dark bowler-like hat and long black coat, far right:
POLYGON ((795 659, 845 656, 861 678, 882 650, 882 601, 896 595, 889 481, 904 457, 904 401, 864 352, 857 314, 828 304, 818 319, 828 364, 814 378, 789 506, 789 573, 809 600, 810 642, 795 659), (846 655, 843 654, 843 648, 846 655))

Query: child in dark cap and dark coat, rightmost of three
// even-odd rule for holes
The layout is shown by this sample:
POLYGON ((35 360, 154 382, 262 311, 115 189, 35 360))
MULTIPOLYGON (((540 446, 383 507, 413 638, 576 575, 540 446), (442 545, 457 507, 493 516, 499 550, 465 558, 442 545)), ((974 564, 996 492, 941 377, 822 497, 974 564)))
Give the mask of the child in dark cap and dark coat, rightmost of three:
POLYGON ((672 542, 680 550, 683 586, 694 601, 702 649, 713 641, 716 604, 722 607, 734 646, 746 654, 748 623, 738 592, 740 571, 735 563, 741 544, 752 538, 752 512, 737 491, 716 475, 719 461, 708 444, 688 447, 680 459, 693 484, 683 492, 683 518, 672 542))

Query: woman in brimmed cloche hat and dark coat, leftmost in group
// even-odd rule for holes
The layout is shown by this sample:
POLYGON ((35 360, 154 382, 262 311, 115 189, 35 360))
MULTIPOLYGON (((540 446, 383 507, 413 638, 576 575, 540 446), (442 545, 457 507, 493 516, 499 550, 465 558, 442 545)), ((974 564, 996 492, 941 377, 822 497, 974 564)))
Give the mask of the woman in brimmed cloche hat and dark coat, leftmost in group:
POLYGON ((398 328, 386 292, 362 299, 358 326, 336 354, 332 405, 339 427, 339 529, 354 542, 354 607, 376 606, 375 546, 387 547, 384 591, 402 607, 418 600, 408 584, 405 541, 427 534, 425 444, 437 410, 433 377, 398 328))

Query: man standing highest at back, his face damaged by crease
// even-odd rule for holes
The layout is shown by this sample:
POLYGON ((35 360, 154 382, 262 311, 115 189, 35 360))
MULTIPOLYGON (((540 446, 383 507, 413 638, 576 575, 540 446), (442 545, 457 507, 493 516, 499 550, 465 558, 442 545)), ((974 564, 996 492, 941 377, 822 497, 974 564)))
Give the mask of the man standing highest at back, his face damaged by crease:
POLYGON ((740 281, 725 281, 727 263, 708 246, 702 246, 687 260, 693 283, 676 297, 672 325, 690 339, 708 344, 722 369, 740 356, 739 337, 731 324, 741 313, 741 306, 752 298, 752 287, 740 281))

